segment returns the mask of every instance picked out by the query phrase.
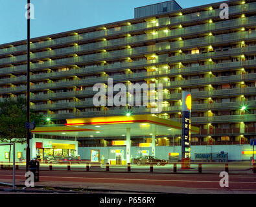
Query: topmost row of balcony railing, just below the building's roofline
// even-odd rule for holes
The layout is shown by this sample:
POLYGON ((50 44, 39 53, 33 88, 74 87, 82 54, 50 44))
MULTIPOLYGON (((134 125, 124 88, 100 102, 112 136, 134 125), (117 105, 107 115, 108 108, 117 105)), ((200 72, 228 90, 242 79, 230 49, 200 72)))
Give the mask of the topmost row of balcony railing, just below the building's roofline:
MULTIPOLYGON (((256 4, 255 3, 248 3, 246 5, 237 5, 237 6, 229 6, 229 15, 235 15, 235 14, 240 14, 241 12, 244 13, 248 13, 248 12, 253 12, 256 9, 256 4)), ((165 25, 177 25, 180 23, 186 24, 189 23, 191 21, 203 21, 206 19, 209 19, 209 17, 214 18, 214 17, 218 17, 220 13, 220 9, 216 9, 216 10, 209 10, 209 11, 204 11, 204 12, 200 12, 200 16, 194 16, 192 14, 187 14, 187 15, 183 15, 183 16, 178 16, 178 17, 163 17, 163 18, 159 18, 158 20, 158 25, 159 26, 165 26, 165 25)), ((237 20, 237 19, 235 19, 237 20)), ((240 19, 239 19, 240 20, 240 19)), ((233 20, 232 20, 233 21, 233 20)), ((227 22, 227 21, 225 21, 227 22)), ((213 23, 212 25, 215 25, 215 23, 213 23)), ((229 23, 229 26, 233 26, 233 25, 238 25, 238 23, 229 23)), ((48 40, 48 41, 40 41, 38 43, 32 43, 31 44, 31 49, 40 49, 43 47, 52 47, 52 46, 56 46, 56 45, 66 45, 69 43, 80 43, 80 42, 84 42, 87 41, 89 39, 95 39, 95 38, 106 38, 108 36, 111 35, 117 35, 117 34, 124 34, 127 32, 135 32, 136 30, 145 30, 148 28, 154 28, 154 27, 158 27, 157 23, 139 23, 136 25, 128 25, 128 26, 123 26, 123 27, 119 27, 117 28, 111 28, 111 29, 107 29, 107 30, 100 30, 100 31, 95 31, 95 32, 87 32, 86 34, 80 34, 80 35, 76 35, 76 36, 68 36, 65 38, 58 38, 58 39, 52 39, 52 40, 48 40)), ((224 25, 220 25, 220 28, 224 28, 224 25)), ((216 28, 218 28, 216 27, 216 28)), ((211 30, 213 30, 213 28, 209 28, 211 30)), ((188 32, 193 32, 194 29, 191 29, 191 31, 188 32)), ((204 31, 203 28, 200 29, 196 29, 197 31, 204 31)), ((182 34, 187 34, 187 31, 183 31, 182 34)), ((133 41, 131 41, 133 42, 133 41)), ((1 49, 0 50, 0 54, 11 54, 14 52, 21 52, 21 51, 25 51, 27 48, 26 45, 21 45, 21 46, 17 46, 17 47, 9 47, 6 49, 1 49)))

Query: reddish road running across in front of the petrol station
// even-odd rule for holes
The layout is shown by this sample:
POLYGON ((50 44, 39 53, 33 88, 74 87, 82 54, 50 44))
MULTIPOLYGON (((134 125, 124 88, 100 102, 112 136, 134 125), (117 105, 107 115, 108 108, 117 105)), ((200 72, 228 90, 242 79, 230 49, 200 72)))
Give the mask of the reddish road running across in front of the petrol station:
MULTIPOLYGON (((220 179, 216 174, 41 171, 36 185, 165 193, 256 193, 256 175, 229 175, 228 188, 220 187, 220 179)), ((0 171, 0 182, 11 180, 12 171, 0 171)), ((16 171, 16 183, 24 181, 25 171, 16 171)))

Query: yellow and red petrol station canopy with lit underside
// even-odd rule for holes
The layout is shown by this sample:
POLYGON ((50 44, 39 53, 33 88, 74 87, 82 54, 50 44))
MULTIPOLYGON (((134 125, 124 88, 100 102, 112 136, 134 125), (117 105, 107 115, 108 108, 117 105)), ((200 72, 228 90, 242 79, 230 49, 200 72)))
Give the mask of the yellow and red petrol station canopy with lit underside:
MULTIPOLYGON (((181 135, 181 123, 150 114, 130 116, 104 116, 93 118, 67 119, 64 125, 44 125, 32 130, 37 135, 77 136, 77 137, 113 137, 126 136, 130 129, 131 136, 181 135)), ((191 125, 191 133, 199 133, 199 128, 191 125)))

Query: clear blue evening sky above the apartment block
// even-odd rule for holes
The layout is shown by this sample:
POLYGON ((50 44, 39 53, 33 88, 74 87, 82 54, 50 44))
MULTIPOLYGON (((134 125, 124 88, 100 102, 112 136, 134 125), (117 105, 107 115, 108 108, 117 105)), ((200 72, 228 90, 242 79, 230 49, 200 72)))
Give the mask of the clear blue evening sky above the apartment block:
MULTIPOLYGON (((134 8, 167 0, 30 0, 30 38, 134 18, 134 8)), ((182 8, 220 0, 176 0, 182 8)), ((0 45, 27 39, 27 0, 0 0, 0 45)))

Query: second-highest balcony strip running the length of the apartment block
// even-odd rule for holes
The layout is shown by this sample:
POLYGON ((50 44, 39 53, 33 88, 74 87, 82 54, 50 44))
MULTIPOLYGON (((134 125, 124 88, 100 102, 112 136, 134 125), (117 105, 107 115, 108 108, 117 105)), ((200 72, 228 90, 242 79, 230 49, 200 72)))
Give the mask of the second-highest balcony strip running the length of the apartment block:
MULTIPOLYGON (((255 25, 256 23, 256 17, 248 17, 243 19, 233 19, 233 20, 226 20, 225 22, 219 22, 219 23, 213 23, 211 25, 200 25, 200 26, 194 26, 194 27, 186 27, 186 28, 178 28, 174 30, 170 30, 169 32, 158 32, 156 35, 143 35, 143 36, 135 36, 130 38, 121 38, 119 41, 112 40, 112 41, 102 41, 100 43, 90 43, 86 45, 81 46, 75 46, 75 47, 68 47, 64 49, 55 49, 55 50, 47 50, 44 52, 36 52, 30 54, 30 60, 41 60, 43 58, 54 58, 57 56, 67 56, 68 54, 79 54, 80 52, 93 52, 94 50, 100 50, 100 49, 108 49, 108 47, 121 47, 130 45, 131 43, 139 43, 141 41, 145 42, 152 39, 162 39, 166 38, 177 38, 180 36, 191 36, 193 33, 195 34, 204 34, 207 32, 215 32, 215 30, 225 30, 227 28, 231 28, 235 25, 235 27, 246 27, 251 24, 255 25)), ((240 37, 242 38, 242 37, 240 37)), ((221 36, 215 36, 215 37, 209 37, 208 43, 220 43, 222 41, 229 40, 221 38, 221 36)), ((201 44, 204 44, 205 38, 198 38, 198 39, 189 39, 187 41, 183 42, 176 42, 176 43, 170 43, 169 49, 176 50, 177 48, 182 49, 182 47, 192 47, 194 43, 199 43, 198 47, 200 47, 201 44)), ((112 52, 113 53, 113 52, 112 52)), ((111 52, 108 52, 108 56, 105 58, 111 57, 111 52)), ((122 52, 121 52, 122 53, 122 52)), ((135 54, 135 51, 130 51, 130 54, 135 54)), ((99 57, 100 58, 100 57, 99 57)), ((100 58, 101 59, 101 58, 100 58)), ((27 55, 21 55, 21 56, 15 56, 12 58, 2 58, 1 63, 2 64, 14 64, 18 62, 24 62, 27 60, 27 55)))

